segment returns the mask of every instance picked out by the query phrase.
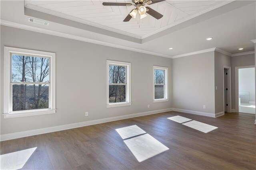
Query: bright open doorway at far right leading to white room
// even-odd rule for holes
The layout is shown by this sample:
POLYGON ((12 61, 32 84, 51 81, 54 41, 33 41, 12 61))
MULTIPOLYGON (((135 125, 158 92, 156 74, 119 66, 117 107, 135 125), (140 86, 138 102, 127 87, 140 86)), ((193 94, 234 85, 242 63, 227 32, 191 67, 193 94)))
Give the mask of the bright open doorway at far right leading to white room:
POLYGON ((238 88, 236 90, 237 109, 240 113, 255 114, 255 67, 237 68, 238 88))

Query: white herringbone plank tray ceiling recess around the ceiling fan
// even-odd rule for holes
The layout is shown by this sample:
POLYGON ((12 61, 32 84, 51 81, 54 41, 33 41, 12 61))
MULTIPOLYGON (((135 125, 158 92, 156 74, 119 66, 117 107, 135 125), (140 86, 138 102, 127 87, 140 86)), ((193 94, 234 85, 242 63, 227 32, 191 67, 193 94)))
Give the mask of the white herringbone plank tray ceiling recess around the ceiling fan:
POLYGON ((157 20, 148 14, 141 20, 131 18, 129 22, 123 20, 134 6, 104 6, 103 2, 132 3, 132 0, 25 0, 25 7, 66 19, 75 18, 78 22, 91 23, 92 26, 100 25, 101 28, 114 29, 117 33, 124 31, 142 39, 232 1, 165 0, 146 5, 162 14, 162 18, 157 20))

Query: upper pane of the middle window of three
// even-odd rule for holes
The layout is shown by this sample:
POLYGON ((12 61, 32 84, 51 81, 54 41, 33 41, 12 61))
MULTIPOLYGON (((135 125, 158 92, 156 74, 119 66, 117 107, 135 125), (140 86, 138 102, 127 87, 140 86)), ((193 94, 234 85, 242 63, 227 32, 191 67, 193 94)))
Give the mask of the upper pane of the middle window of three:
POLYGON ((125 66, 108 66, 109 83, 125 83, 125 66))

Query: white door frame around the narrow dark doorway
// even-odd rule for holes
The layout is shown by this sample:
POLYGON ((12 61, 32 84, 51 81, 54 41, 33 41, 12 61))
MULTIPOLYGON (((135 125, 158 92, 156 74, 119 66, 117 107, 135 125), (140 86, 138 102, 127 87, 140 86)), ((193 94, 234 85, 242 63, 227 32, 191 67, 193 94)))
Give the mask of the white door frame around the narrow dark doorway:
POLYGON ((223 113, 225 114, 225 85, 224 85, 224 81, 225 81, 225 75, 224 75, 224 69, 227 69, 228 70, 228 95, 227 95, 227 98, 228 98, 228 108, 227 108, 227 112, 228 113, 231 113, 232 112, 232 96, 231 96, 231 67, 230 66, 224 66, 223 67, 223 113))

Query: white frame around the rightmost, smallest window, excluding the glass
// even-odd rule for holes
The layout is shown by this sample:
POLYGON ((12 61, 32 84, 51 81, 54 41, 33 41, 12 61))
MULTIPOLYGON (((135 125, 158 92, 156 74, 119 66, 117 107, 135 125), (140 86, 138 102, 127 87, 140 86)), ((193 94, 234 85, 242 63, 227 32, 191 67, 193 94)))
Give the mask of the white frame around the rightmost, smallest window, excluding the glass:
POLYGON ((168 102, 168 67, 161 66, 153 66, 153 102, 168 102), (155 69, 164 70, 164 98, 163 99, 155 99, 155 69))

